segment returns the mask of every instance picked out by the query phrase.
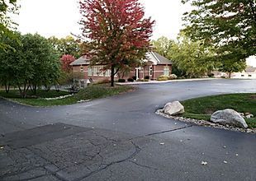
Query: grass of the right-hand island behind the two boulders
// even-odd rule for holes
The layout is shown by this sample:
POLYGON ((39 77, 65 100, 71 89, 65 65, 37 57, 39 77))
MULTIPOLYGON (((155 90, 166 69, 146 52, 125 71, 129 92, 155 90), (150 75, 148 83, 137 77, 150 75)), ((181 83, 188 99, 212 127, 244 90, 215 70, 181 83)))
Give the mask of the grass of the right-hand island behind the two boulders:
POLYGON ((256 128, 256 93, 213 95, 185 100, 182 104, 185 107, 185 118, 209 121, 211 114, 220 109, 235 109, 239 113, 254 114, 254 118, 245 118, 245 121, 249 128, 256 128))

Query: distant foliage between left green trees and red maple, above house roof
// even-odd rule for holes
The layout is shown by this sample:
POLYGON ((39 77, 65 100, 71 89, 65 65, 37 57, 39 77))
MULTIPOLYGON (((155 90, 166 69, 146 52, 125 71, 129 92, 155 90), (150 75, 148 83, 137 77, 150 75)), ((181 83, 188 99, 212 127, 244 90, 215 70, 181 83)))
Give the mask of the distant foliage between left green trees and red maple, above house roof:
POLYGON ((72 36, 58 39, 55 36, 49 38, 50 43, 62 55, 72 55, 74 58, 81 56, 79 40, 73 39, 72 36))

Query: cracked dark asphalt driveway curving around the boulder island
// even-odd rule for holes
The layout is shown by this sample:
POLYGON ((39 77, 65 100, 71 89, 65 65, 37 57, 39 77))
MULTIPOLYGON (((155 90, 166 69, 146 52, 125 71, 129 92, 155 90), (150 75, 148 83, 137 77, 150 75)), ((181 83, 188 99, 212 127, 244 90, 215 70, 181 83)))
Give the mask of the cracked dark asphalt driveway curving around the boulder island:
POLYGON ((255 134, 154 114, 168 101, 235 92, 256 92, 256 81, 148 84, 48 108, 0 100, 0 180, 255 180, 255 134))

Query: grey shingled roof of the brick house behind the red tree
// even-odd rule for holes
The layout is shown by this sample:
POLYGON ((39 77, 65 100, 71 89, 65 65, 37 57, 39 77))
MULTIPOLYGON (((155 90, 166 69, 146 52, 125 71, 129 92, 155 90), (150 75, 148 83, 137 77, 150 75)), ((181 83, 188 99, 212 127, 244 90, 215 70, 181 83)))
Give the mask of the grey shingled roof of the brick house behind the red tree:
MULTIPOLYGON (((168 58, 163 57, 162 55, 160 55, 159 53, 155 53, 155 52, 149 52, 146 54, 147 59, 145 59, 145 62, 152 62, 154 63, 154 65, 162 65, 162 64, 173 64, 172 61, 170 61, 168 58)), ((82 56, 78 59, 76 59, 75 61, 73 61, 73 63, 70 63, 71 66, 76 66, 76 65, 89 65, 90 64, 90 60, 88 58, 86 58, 85 56, 82 56)))

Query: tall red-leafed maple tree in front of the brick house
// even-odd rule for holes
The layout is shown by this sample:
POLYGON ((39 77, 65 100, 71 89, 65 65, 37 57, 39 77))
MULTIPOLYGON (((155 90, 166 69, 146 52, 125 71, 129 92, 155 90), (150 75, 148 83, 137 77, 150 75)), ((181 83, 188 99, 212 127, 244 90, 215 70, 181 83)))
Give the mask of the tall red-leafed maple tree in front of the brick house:
POLYGON ((111 70, 111 86, 116 73, 135 67, 150 47, 154 21, 145 18, 139 0, 80 0, 83 37, 89 39, 85 53, 91 64, 111 70))

